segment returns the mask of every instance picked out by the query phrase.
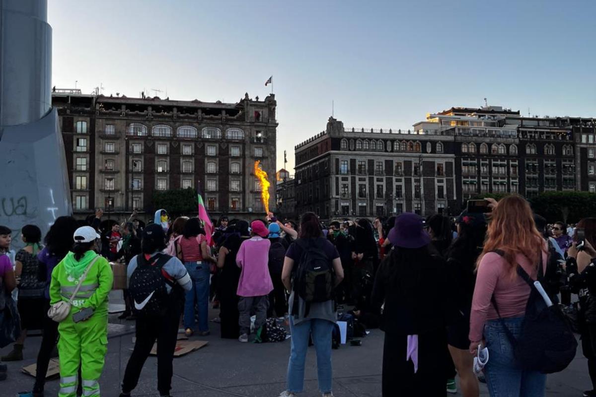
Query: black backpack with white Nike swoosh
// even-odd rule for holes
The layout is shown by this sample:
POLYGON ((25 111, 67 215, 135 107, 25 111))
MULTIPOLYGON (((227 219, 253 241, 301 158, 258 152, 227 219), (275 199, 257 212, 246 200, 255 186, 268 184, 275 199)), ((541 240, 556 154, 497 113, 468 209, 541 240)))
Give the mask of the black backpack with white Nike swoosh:
POLYGON ((144 317, 162 317, 172 308, 174 283, 162 274, 162 267, 172 257, 157 254, 150 261, 144 254, 136 256, 136 268, 132 272, 128 291, 132 298, 132 311, 144 317), (166 284, 172 287, 167 293, 166 284))

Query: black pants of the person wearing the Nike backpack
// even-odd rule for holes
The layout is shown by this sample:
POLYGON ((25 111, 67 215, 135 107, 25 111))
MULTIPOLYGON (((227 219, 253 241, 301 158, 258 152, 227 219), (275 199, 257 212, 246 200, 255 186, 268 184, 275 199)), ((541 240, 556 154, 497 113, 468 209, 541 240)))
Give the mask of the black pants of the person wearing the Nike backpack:
POLYGON ((136 318, 135 348, 126 364, 122 381, 123 393, 130 393, 136 387, 145 360, 157 340, 157 390, 162 396, 169 395, 180 315, 181 310, 170 310, 160 318, 136 318))

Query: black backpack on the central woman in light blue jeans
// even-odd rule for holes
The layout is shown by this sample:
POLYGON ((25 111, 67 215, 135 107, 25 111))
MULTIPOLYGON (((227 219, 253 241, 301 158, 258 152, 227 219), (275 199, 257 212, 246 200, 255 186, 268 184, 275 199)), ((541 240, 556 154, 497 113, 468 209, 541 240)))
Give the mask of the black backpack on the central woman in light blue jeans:
MULTIPOLYGON (((295 243, 302 249, 302 256, 294 272, 293 289, 306 302, 304 317, 307 317, 312 302, 326 302, 334 298, 335 274, 319 240, 298 239, 295 243)), ((299 299, 294 296, 291 314, 298 314, 298 302, 299 299)))

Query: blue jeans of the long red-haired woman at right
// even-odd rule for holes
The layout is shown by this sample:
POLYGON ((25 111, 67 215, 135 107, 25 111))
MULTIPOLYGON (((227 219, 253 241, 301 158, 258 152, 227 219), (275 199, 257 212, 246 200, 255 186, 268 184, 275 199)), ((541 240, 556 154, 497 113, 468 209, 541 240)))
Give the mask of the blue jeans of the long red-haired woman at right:
MULTIPOLYGON (((513 336, 519 337, 523 317, 504 320, 513 336)), ((519 368, 500 320, 486 321, 484 337, 488 348, 485 377, 491 397, 544 396, 547 376, 538 371, 524 371, 519 368)))

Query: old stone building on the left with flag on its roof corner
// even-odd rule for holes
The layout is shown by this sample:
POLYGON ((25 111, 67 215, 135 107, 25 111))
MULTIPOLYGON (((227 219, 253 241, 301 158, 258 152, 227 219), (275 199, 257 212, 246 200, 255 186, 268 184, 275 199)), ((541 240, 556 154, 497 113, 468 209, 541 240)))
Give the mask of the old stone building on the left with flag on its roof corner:
POLYGON ((214 217, 263 212, 253 168, 275 175, 275 95, 231 104, 57 92, 52 104, 75 214, 150 213, 154 192, 186 187, 214 217))

